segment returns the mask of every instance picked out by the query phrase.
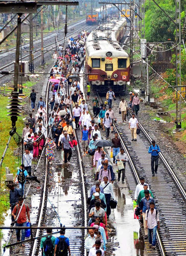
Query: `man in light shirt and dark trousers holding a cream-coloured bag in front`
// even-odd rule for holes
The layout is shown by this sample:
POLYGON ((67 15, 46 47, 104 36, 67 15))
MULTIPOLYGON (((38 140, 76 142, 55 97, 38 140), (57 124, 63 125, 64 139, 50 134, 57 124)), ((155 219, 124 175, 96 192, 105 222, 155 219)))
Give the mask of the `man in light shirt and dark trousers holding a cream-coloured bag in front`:
POLYGON ((122 172, 121 181, 122 181, 122 183, 125 183, 124 182, 124 179, 125 179, 125 163, 129 159, 127 157, 127 154, 124 153, 124 149, 122 147, 120 148, 120 153, 118 153, 117 156, 116 156, 116 160, 117 160, 117 165, 118 165, 118 181, 120 181, 121 172, 122 172))

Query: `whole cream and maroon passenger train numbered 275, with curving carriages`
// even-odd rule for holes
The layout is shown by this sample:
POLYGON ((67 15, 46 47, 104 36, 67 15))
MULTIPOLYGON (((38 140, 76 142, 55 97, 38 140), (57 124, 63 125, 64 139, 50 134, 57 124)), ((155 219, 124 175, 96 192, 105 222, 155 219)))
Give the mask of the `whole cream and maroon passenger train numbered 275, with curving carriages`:
POLYGON ((115 92, 126 89, 130 79, 130 58, 118 41, 126 30, 126 18, 93 30, 86 39, 85 68, 92 89, 105 92, 112 87, 115 92))

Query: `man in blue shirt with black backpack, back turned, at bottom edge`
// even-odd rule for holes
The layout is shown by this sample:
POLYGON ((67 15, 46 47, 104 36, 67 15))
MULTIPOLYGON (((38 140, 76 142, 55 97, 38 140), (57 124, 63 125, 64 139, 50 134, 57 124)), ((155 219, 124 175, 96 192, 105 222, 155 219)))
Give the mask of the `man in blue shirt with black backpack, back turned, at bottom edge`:
POLYGON ((55 249, 54 249, 54 256, 61 255, 59 252, 63 250, 63 255, 68 256, 71 255, 70 253, 70 243, 68 237, 65 237, 65 229, 62 228, 59 231, 60 237, 56 238, 55 241, 55 249))

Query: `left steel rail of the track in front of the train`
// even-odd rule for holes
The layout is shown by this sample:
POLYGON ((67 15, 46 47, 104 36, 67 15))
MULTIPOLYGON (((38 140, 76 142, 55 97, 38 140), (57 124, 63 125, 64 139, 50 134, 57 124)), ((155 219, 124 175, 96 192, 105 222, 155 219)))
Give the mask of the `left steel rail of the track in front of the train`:
MULTIPOLYGON (((98 93, 97 93, 97 94, 98 94, 98 93)), ((103 103, 103 101, 102 101, 102 99, 101 99, 101 97, 100 97, 99 94, 98 94, 98 97, 99 97, 99 99, 100 99, 100 102, 103 103)), ((113 123, 113 126, 114 126, 114 130, 118 133, 118 137, 119 137, 120 140, 121 140, 121 145, 122 145, 123 149, 125 150, 125 153, 127 154, 128 158, 129 158, 129 163, 130 163, 130 166, 131 166, 132 171, 133 171, 133 173, 134 173, 135 179, 137 180, 138 183, 140 183, 139 175, 138 175, 137 169, 136 169, 136 167, 135 167, 135 165, 134 165, 134 163, 133 163, 133 160, 132 160, 132 158, 131 158, 131 156, 130 156, 130 153, 129 153, 127 147, 125 146, 125 143, 123 142, 123 139, 122 139, 122 137, 121 137, 121 135, 120 135, 119 130, 117 129, 116 124, 113 123)), ((151 141, 152 141, 152 139, 151 139, 151 141)), ((160 238, 159 233, 158 233, 158 230, 156 231, 156 236, 157 236, 157 242, 158 242, 158 245, 159 245, 159 249, 160 249, 160 251, 161 251, 161 254, 162 254, 162 256, 166 256, 165 251, 164 251, 164 248, 163 248, 163 244, 162 244, 162 241, 161 241, 161 238, 160 238)))

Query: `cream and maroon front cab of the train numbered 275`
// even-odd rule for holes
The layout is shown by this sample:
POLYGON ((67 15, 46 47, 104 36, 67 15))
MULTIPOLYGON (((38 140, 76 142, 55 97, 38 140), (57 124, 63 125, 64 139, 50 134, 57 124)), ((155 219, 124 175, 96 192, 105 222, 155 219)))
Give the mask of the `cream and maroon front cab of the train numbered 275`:
POLYGON ((126 90, 126 83, 130 80, 129 57, 89 57, 86 66, 93 90, 106 92, 110 87, 115 92, 126 90))

